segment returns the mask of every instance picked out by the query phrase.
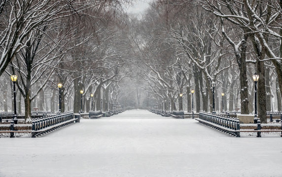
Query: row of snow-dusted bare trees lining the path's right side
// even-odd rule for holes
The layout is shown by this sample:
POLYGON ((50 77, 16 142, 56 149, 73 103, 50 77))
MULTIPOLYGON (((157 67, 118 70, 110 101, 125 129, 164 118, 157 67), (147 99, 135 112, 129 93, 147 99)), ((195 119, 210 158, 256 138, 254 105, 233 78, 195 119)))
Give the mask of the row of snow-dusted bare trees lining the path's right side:
MULTIPOLYGON (((266 110, 273 109, 271 97, 276 97, 281 110, 281 8, 279 0, 152 3, 136 31, 145 66, 140 68, 147 83, 144 89, 157 96, 157 102, 170 100, 172 110, 179 93, 195 89, 197 111, 212 111, 211 83, 215 82, 215 95, 227 93, 229 110, 237 104, 242 114, 249 114, 252 75, 257 73, 258 116, 266 122, 266 110)), ((191 103, 191 97, 187 99, 191 103)))

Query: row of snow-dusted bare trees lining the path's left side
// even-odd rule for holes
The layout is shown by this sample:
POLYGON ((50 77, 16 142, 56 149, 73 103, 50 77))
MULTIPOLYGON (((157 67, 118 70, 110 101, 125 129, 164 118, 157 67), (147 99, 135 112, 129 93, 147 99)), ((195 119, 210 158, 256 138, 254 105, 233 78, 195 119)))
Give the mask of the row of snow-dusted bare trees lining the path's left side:
POLYGON ((21 110, 23 97, 26 119, 31 117, 32 103, 40 110, 48 110, 50 106, 55 111, 58 83, 63 84, 62 112, 79 111, 81 89, 87 111, 91 109, 90 93, 94 93, 97 108, 101 93, 104 99, 115 102, 118 81, 127 72, 122 67, 130 62, 128 45, 121 40, 125 35, 121 28, 125 16, 123 4, 128 2, 1 1, 0 76, 5 83, 1 87, 4 110, 8 105, 7 78, 12 73, 19 78, 18 105, 21 110))

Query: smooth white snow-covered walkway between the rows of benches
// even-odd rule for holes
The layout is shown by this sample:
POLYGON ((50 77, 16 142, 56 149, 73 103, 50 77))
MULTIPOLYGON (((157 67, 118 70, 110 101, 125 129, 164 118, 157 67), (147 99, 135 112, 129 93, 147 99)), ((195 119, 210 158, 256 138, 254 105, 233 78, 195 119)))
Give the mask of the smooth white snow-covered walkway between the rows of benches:
POLYGON ((144 110, 0 138, 0 177, 282 177, 282 138, 235 138, 144 110))

